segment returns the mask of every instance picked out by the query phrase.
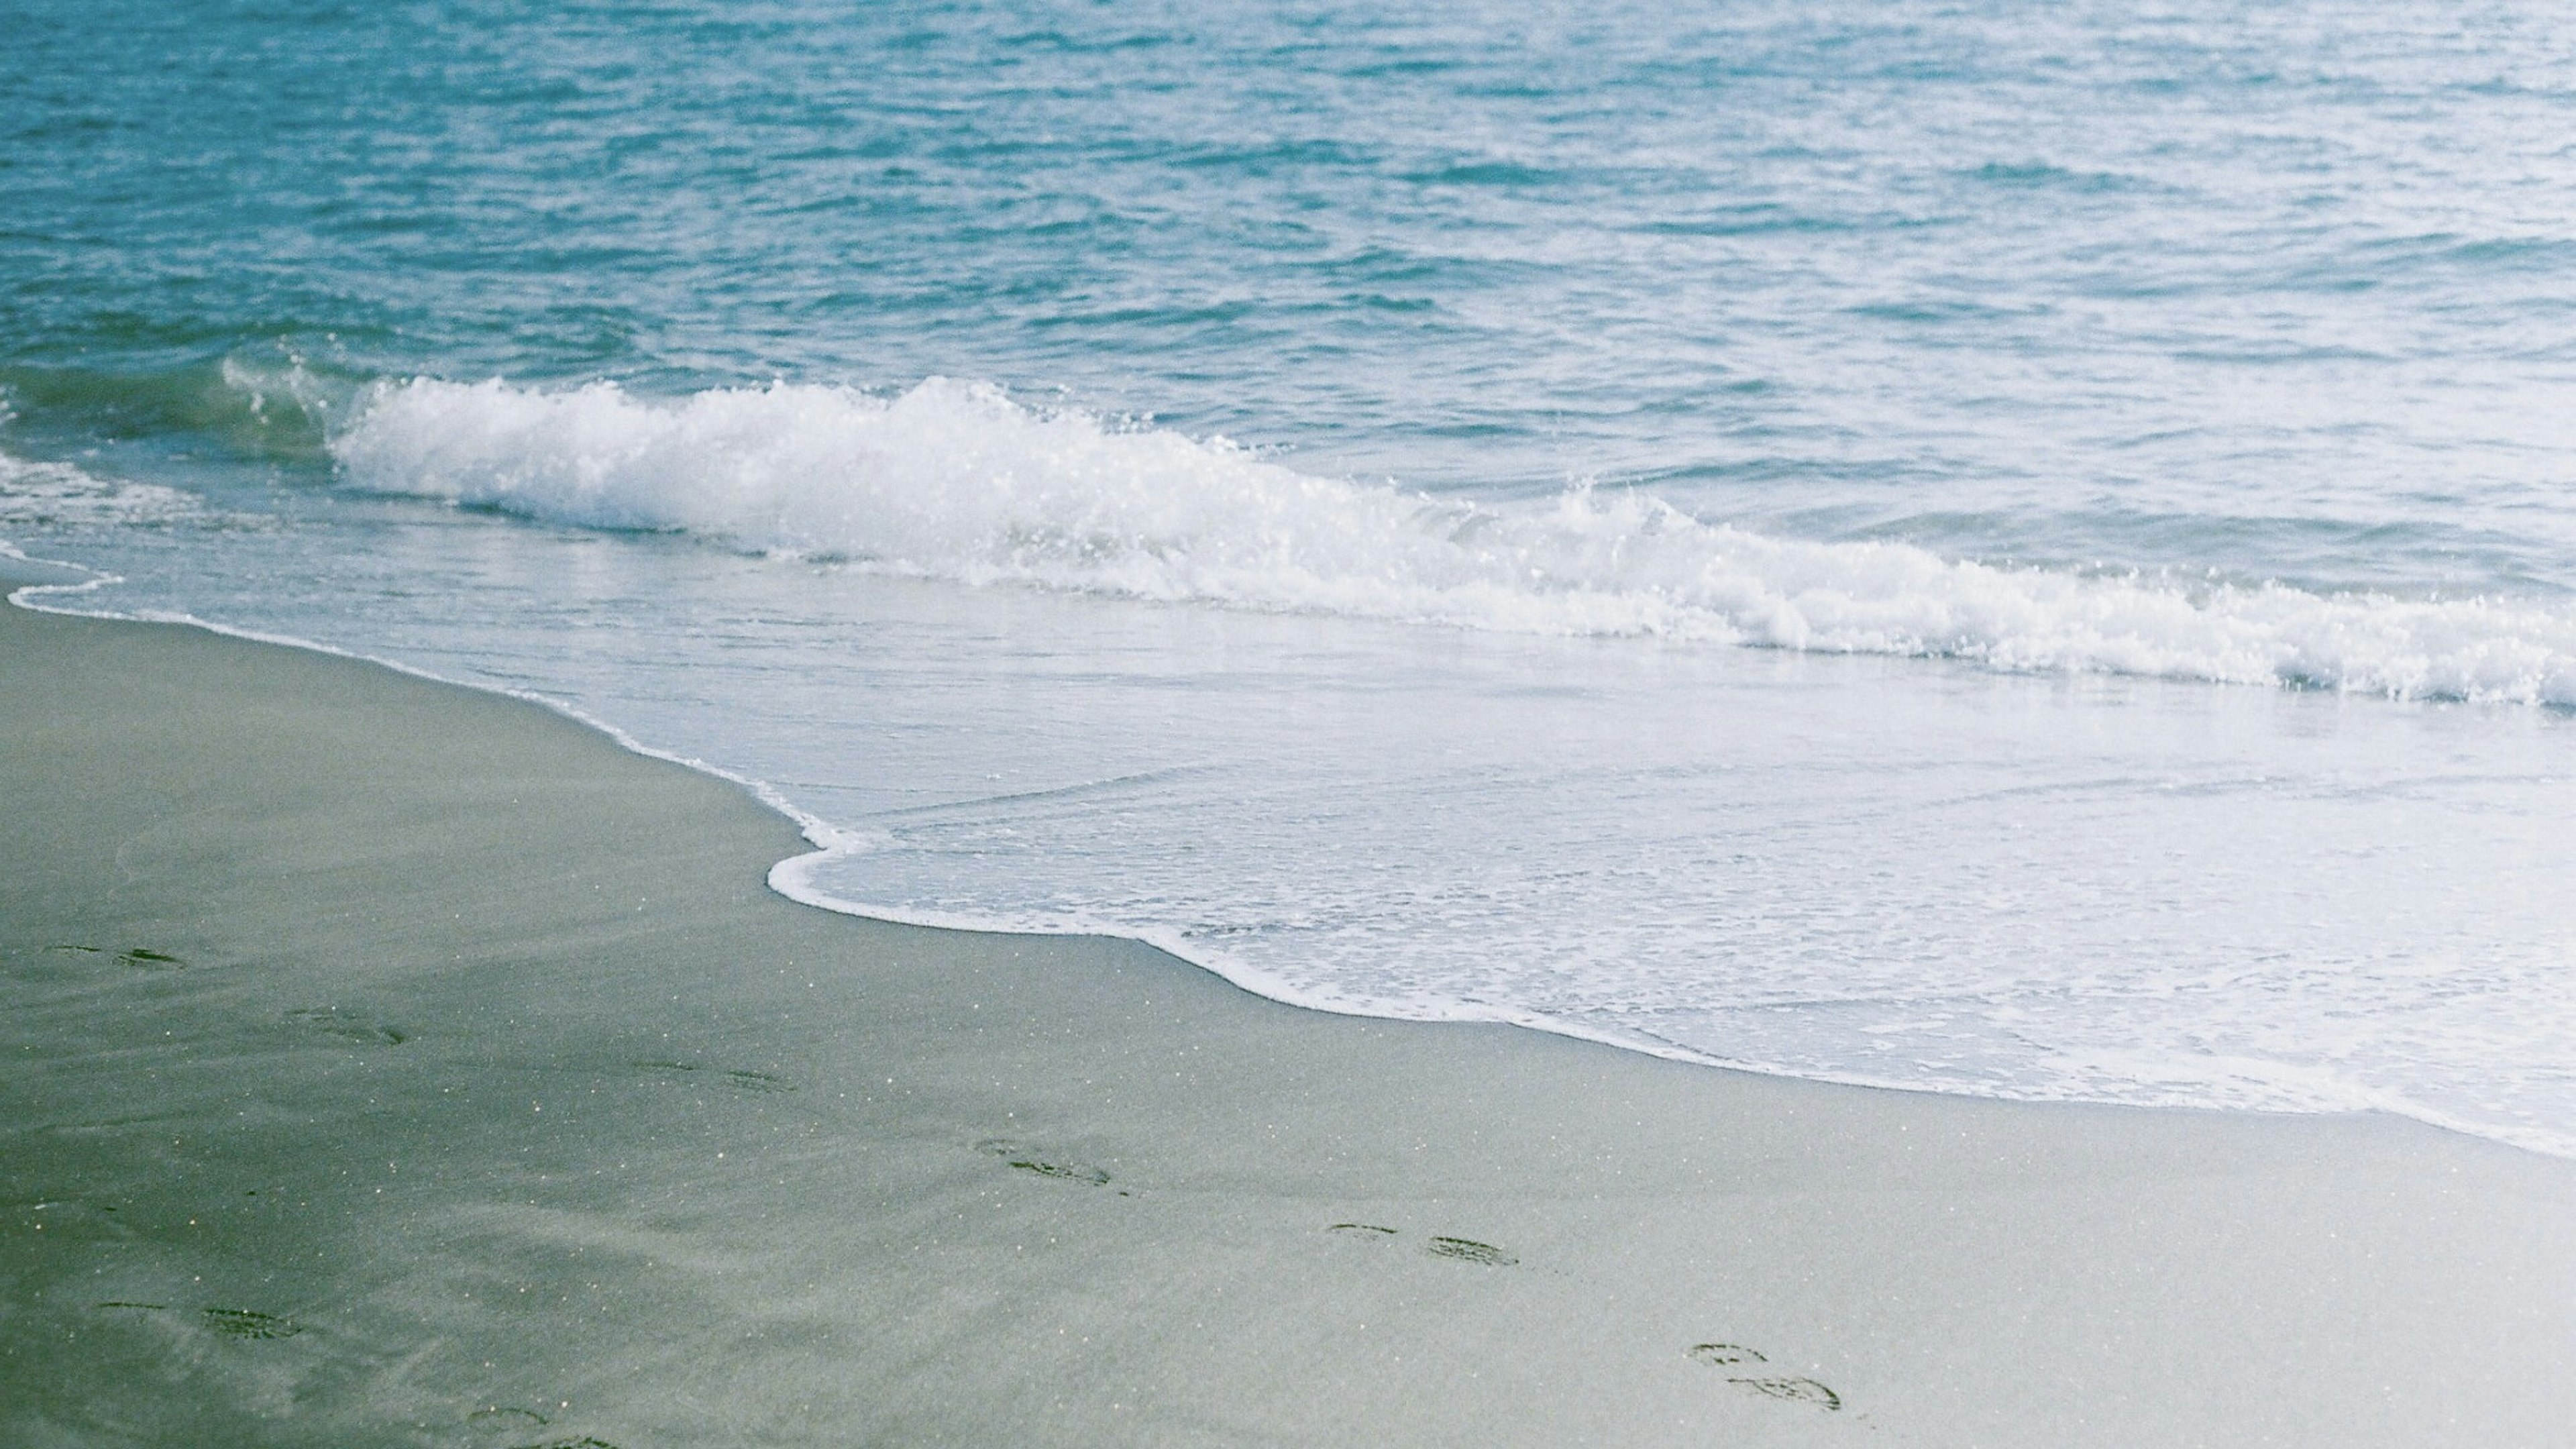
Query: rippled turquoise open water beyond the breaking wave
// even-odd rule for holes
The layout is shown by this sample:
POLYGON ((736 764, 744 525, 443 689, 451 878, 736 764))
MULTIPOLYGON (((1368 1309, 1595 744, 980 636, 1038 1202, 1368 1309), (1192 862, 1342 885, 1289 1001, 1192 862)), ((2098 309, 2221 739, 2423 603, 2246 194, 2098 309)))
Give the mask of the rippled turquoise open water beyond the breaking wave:
POLYGON ((18 5, 21 428, 930 374, 1481 498, 2576 585, 2576 41, 2406 5, 18 5), (52 10, 52 15, 49 15, 52 10))

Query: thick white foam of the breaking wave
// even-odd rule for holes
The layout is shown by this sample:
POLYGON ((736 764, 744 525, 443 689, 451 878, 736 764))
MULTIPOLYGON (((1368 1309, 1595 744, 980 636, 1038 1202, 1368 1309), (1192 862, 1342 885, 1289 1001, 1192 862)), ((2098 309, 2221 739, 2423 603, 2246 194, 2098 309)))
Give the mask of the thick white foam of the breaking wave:
POLYGON ((1502 511, 1301 474, 930 379, 714 389, 379 387, 361 487, 963 583, 1538 634, 1942 655, 2007 670, 2576 704, 2576 608, 1999 567, 1703 523, 1636 490, 1502 511))

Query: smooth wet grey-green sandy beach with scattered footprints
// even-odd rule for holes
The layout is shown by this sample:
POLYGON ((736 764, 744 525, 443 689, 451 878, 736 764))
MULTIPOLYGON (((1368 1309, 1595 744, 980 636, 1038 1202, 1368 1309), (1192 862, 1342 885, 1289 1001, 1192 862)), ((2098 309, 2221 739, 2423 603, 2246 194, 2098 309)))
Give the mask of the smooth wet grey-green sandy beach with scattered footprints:
MULTIPOLYGON (((2566 1444, 2576 1163, 840 918, 541 706, 0 608, 0 1441, 2566 1444)), ((1226 822, 1211 820, 1211 830, 1226 822)))

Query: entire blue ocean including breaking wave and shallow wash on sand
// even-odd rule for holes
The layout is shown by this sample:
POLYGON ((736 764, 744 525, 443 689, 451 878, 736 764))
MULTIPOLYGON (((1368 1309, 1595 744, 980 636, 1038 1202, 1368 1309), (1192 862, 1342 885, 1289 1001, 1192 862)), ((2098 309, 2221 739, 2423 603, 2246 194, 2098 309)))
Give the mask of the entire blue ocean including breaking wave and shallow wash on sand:
POLYGON ((2571 15, 8 34, 28 603, 551 701, 871 915, 2576 1155, 2571 15))

